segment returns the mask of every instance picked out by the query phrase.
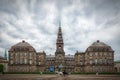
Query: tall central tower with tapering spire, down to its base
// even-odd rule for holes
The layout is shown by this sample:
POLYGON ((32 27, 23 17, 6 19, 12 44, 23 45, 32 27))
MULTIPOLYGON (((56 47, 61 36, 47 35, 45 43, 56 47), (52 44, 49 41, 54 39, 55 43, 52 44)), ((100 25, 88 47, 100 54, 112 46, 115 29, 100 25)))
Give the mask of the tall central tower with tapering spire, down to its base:
POLYGON ((65 63, 64 42, 62 37, 61 23, 59 22, 55 52, 55 69, 58 71, 63 71, 65 65, 64 63, 65 63))

